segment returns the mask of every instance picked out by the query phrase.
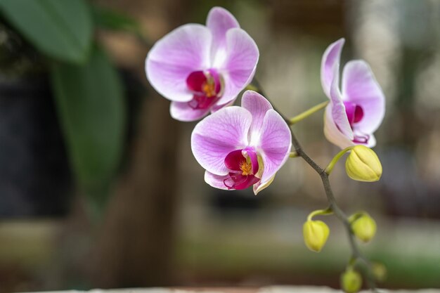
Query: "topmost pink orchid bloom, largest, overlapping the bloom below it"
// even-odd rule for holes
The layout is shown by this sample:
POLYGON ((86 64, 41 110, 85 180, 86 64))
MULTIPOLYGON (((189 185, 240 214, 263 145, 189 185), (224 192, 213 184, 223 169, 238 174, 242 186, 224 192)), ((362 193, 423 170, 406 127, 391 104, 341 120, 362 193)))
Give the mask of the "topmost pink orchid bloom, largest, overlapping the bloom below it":
POLYGON ((259 58, 257 44, 231 13, 214 7, 206 26, 182 25, 148 52, 150 84, 172 100, 174 119, 194 121, 231 105, 250 84, 259 58))

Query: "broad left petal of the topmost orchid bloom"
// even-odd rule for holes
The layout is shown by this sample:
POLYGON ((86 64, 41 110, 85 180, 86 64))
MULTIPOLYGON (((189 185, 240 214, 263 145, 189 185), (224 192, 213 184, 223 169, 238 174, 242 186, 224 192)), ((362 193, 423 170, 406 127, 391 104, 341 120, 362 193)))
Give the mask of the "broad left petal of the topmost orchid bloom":
POLYGON ((186 102, 193 98, 186 78, 210 65, 212 34, 203 25, 182 25, 156 42, 145 60, 147 79, 169 100, 186 102))

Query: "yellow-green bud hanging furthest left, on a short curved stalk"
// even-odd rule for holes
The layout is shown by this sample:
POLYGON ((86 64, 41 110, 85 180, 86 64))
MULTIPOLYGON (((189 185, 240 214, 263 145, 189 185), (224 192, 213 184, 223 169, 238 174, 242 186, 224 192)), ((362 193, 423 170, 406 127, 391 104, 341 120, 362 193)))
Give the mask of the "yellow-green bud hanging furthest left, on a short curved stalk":
POLYGON ((330 229, 323 221, 306 221, 302 227, 304 242, 312 252, 320 252, 327 242, 330 229))

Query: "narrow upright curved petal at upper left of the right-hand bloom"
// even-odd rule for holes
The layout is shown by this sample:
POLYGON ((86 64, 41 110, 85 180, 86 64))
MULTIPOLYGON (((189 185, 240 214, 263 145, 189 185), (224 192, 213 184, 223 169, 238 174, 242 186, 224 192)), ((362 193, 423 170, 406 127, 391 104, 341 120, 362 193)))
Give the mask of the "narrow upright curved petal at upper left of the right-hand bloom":
POLYGON ((341 58, 342 46, 344 46, 345 39, 339 39, 330 44, 325 50, 323 60, 321 61, 321 84, 325 95, 330 98, 330 87, 337 76, 339 81, 339 69, 335 72, 335 65, 339 68, 339 60, 341 58))

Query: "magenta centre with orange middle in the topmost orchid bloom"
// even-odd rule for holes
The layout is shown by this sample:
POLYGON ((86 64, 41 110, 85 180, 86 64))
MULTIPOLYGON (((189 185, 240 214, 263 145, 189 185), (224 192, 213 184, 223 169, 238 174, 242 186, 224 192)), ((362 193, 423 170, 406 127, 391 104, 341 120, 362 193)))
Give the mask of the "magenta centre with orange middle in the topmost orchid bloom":
POLYGON ((191 72, 186 78, 186 86, 193 92, 193 100, 188 105, 194 110, 211 107, 221 96, 221 76, 213 69, 191 72))

